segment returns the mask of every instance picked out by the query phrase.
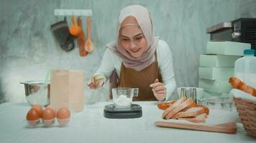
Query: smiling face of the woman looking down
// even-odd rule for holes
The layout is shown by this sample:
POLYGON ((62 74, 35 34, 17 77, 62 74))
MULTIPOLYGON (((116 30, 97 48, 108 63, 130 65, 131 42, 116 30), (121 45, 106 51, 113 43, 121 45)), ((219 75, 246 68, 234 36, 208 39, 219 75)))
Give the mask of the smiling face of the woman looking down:
POLYGON ((128 16, 121 24, 119 40, 125 50, 134 58, 139 58, 147 49, 147 40, 137 20, 128 16))

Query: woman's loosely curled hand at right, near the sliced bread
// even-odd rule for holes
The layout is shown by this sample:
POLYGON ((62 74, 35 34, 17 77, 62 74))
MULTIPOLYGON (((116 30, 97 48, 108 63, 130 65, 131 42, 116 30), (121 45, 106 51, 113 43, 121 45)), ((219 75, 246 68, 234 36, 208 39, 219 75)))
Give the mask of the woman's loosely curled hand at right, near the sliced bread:
POLYGON ((165 84, 162 82, 159 82, 158 79, 155 79, 155 82, 153 84, 150 84, 150 87, 152 87, 152 91, 155 95, 155 98, 159 101, 163 101, 166 97, 166 88, 165 84))

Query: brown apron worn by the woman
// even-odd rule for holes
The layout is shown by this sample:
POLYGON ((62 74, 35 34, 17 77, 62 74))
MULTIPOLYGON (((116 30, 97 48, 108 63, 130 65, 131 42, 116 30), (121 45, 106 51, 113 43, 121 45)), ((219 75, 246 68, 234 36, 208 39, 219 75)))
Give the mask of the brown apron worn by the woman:
POLYGON ((152 92, 152 87, 150 87, 150 84, 154 83, 155 79, 162 82, 156 52, 155 61, 150 66, 142 69, 142 71, 126 68, 122 64, 118 87, 139 88, 139 96, 133 97, 133 101, 155 101, 157 99, 152 92))

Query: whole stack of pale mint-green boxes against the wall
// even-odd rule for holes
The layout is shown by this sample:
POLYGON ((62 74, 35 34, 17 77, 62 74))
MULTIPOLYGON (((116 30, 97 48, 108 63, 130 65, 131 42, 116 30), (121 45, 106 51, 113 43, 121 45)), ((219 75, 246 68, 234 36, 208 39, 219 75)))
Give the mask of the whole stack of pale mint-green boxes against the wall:
POLYGON ((234 75, 234 62, 243 56, 250 44, 232 41, 209 41, 206 54, 200 56, 198 87, 204 97, 226 97, 231 86, 229 77, 234 75))

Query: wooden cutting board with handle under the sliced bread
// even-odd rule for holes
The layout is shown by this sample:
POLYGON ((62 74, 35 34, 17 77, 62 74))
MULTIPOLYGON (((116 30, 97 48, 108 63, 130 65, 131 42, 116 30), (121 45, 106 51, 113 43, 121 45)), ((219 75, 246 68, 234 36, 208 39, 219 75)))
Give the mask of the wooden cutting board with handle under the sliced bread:
POLYGON ((237 124, 235 122, 228 122, 224 124, 217 124, 215 126, 206 126, 198 124, 185 124, 185 123, 173 123, 173 122, 155 122, 158 127, 170 127, 178 129, 192 129, 206 132, 221 132, 227 134, 235 134, 237 132, 237 124))

